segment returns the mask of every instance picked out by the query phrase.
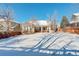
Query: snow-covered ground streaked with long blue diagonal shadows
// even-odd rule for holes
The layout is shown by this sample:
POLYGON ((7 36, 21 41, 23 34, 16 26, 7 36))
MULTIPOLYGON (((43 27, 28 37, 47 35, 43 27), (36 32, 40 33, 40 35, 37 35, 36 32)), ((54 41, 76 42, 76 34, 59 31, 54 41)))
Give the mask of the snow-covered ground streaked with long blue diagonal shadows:
POLYGON ((48 49, 62 50, 63 48, 79 50, 79 35, 64 32, 35 33, 0 40, 0 55, 42 55, 40 53, 49 55, 53 52, 48 49))

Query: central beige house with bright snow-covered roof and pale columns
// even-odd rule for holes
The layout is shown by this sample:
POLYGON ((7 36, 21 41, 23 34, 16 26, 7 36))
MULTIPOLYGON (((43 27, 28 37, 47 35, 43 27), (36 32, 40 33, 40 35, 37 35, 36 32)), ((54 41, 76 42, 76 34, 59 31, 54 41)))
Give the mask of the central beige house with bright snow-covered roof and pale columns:
POLYGON ((23 33, 52 32, 53 25, 46 20, 31 20, 22 26, 23 33))

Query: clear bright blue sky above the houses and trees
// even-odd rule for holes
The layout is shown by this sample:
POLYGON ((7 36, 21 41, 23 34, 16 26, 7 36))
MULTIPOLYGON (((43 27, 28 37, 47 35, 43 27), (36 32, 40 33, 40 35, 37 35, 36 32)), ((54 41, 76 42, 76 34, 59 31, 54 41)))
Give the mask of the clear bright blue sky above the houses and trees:
POLYGON ((73 13, 79 12, 79 4, 69 3, 10 3, 0 4, 0 7, 13 9, 14 19, 20 23, 29 21, 32 17, 37 20, 47 20, 47 15, 54 15, 58 23, 62 16, 67 16, 71 20, 73 13))

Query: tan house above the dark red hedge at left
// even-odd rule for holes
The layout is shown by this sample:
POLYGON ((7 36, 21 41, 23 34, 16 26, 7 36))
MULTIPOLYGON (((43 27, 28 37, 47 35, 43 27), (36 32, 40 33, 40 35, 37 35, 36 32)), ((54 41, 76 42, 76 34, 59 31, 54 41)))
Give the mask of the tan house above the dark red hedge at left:
POLYGON ((21 25, 13 20, 7 21, 4 18, 0 18, 0 32, 21 32, 21 25))

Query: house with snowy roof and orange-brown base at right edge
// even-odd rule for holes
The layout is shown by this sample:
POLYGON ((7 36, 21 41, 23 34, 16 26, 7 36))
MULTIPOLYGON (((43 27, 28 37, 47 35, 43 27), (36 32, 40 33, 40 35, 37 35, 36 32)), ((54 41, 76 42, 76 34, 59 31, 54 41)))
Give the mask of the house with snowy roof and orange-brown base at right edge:
POLYGON ((66 27, 66 32, 79 34, 79 13, 72 15, 72 21, 70 22, 69 26, 66 27))

